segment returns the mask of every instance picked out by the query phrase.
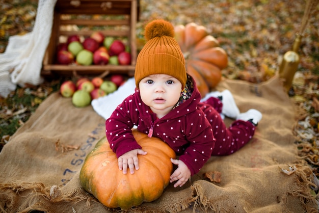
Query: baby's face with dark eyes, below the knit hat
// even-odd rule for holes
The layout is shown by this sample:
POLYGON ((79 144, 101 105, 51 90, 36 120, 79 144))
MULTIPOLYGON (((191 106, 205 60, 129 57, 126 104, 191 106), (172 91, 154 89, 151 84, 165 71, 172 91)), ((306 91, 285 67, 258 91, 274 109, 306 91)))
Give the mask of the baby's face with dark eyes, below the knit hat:
POLYGON ((169 113, 180 97, 181 83, 167 74, 154 74, 143 78, 139 84, 142 101, 163 117, 169 113))

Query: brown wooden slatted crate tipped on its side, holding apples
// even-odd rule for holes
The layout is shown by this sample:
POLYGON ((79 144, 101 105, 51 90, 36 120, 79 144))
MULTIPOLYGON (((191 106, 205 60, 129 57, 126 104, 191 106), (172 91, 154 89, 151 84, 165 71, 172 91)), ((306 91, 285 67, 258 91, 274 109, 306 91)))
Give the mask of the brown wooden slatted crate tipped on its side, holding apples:
POLYGON ((41 74, 70 76, 75 74, 101 75, 109 72, 133 76, 137 58, 136 22, 138 15, 138 0, 58 0, 41 74), (57 47, 60 42, 74 34, 84 39, 94 31, 101 31, 104 36, 126 38, 131 51, 131 65, 81 66, 56 63, 57 47))

